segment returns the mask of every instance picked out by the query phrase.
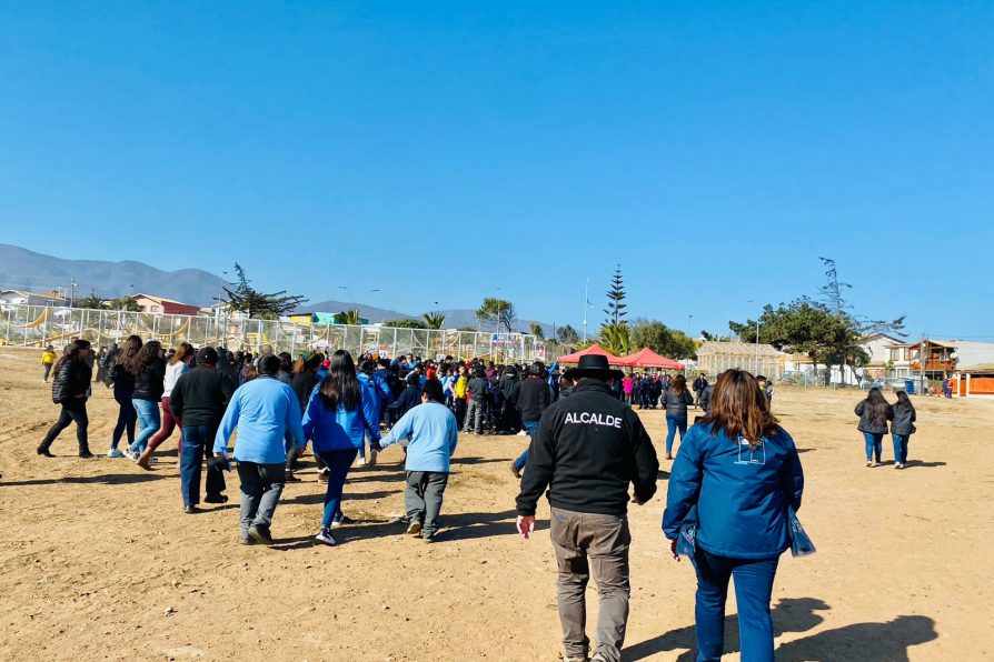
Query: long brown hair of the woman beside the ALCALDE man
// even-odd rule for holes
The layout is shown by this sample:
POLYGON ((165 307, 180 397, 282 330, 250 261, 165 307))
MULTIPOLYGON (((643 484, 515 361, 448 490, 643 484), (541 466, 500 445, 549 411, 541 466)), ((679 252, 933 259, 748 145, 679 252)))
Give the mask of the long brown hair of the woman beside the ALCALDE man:
POLYGON ((718 377, 710 413, 700 422, 712 425, 712 434, 724 432, 732 439, 742 437, 753 450, 759 448, 764 435, 779 431, 756 378, 745 370, 726 370, 718 377))

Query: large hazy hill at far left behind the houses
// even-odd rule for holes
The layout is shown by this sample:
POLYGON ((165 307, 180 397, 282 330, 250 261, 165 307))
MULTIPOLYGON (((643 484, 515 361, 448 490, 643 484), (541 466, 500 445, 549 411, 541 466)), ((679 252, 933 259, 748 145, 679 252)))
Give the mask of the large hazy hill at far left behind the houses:
POLYGON ((52 290, 67 294, 76 279, 77 297, 96 291, 100 297, 120 297, 133 292, 159 294, 195 305, 210 305, 225 280, 201 269, 162 271, 141 262, 126 260, 63 260, 17 245, 0 243, 0 288, 52 290))

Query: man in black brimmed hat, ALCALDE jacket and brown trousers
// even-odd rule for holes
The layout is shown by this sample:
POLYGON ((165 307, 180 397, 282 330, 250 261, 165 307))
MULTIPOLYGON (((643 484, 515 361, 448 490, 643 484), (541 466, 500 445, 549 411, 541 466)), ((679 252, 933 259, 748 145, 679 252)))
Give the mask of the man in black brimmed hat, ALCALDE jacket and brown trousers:
POLYGON ((592 565, 600 612, 590 661, 622 659, 630 593, 629 484, 633 503, 642 505, 656 493, 659 461, 653 440, 638 414, 609 385, 623 377, 598 355, 582 357, 579 365, 566 372, 567 380, 578 383, 569 398, 543 413, 517 498, 517 529, 528 539, 538 499, 548 489, 567 662, 585 661, 589 653, 585 592, 592 565))

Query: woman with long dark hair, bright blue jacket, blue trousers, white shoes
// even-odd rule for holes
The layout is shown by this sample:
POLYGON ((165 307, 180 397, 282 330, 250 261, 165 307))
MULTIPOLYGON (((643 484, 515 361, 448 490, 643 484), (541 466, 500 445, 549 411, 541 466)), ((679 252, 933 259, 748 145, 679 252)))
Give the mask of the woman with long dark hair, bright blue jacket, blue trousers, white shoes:
MULTIPOLYGON (((331 526, 340 512, 341 490, 349 468, 362 448, 366 432, 379 443, 378 395, 356 377, 356 364, 345 350, 331 355, 328 377, 310 395, 304 412, 304 437, 314 440, 314 452, 327 465, 328 491, 318 542, 335 544, 331 526)), ((340 518, 338 520, 340 522, 340 518)))

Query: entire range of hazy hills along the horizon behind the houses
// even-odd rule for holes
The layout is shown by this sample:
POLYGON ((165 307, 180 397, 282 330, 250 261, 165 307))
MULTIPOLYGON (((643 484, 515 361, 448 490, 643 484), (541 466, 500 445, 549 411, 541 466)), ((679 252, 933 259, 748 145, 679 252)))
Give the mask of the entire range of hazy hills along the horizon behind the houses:
MULTIPOLYGON (((0 289, 30 290, 34 292, 58 290, 69 294, 72 282, 76 282, 77 298, 87 297, 90 292, 96 292, 98 295, 106 298, 120 297, 128 293, 145 293, 157 294, 195 305, 210 305, 215 303, 221 287, 226 284, 225 279, 202 269, 163 271, 132 260, 121 262, 64 260, 29 251, 18 245, 0 243, 0 289)), ((421 312, 400 312, 366 303, 334 300, 306 303, 299 310, 301 312, 339 312, 350 308, 358 308, 359 315, 374 323, 401 318, 420 319, 421 312)), ((460 327, 478 328, 476 311, 471 309, 449 309, 431 312, 445 313, 445 327, 447 329, 460 327)), ((514 328, 515 330, 527 331, 533 321, 517 320, 514 323, 514 328)), ((546 334, 551 333, 551 324, 538 323, 541 324, 546 334)), ((484 331, 489 331, 494 329, 494 324, 484 324, 480 328, 484 331)))

